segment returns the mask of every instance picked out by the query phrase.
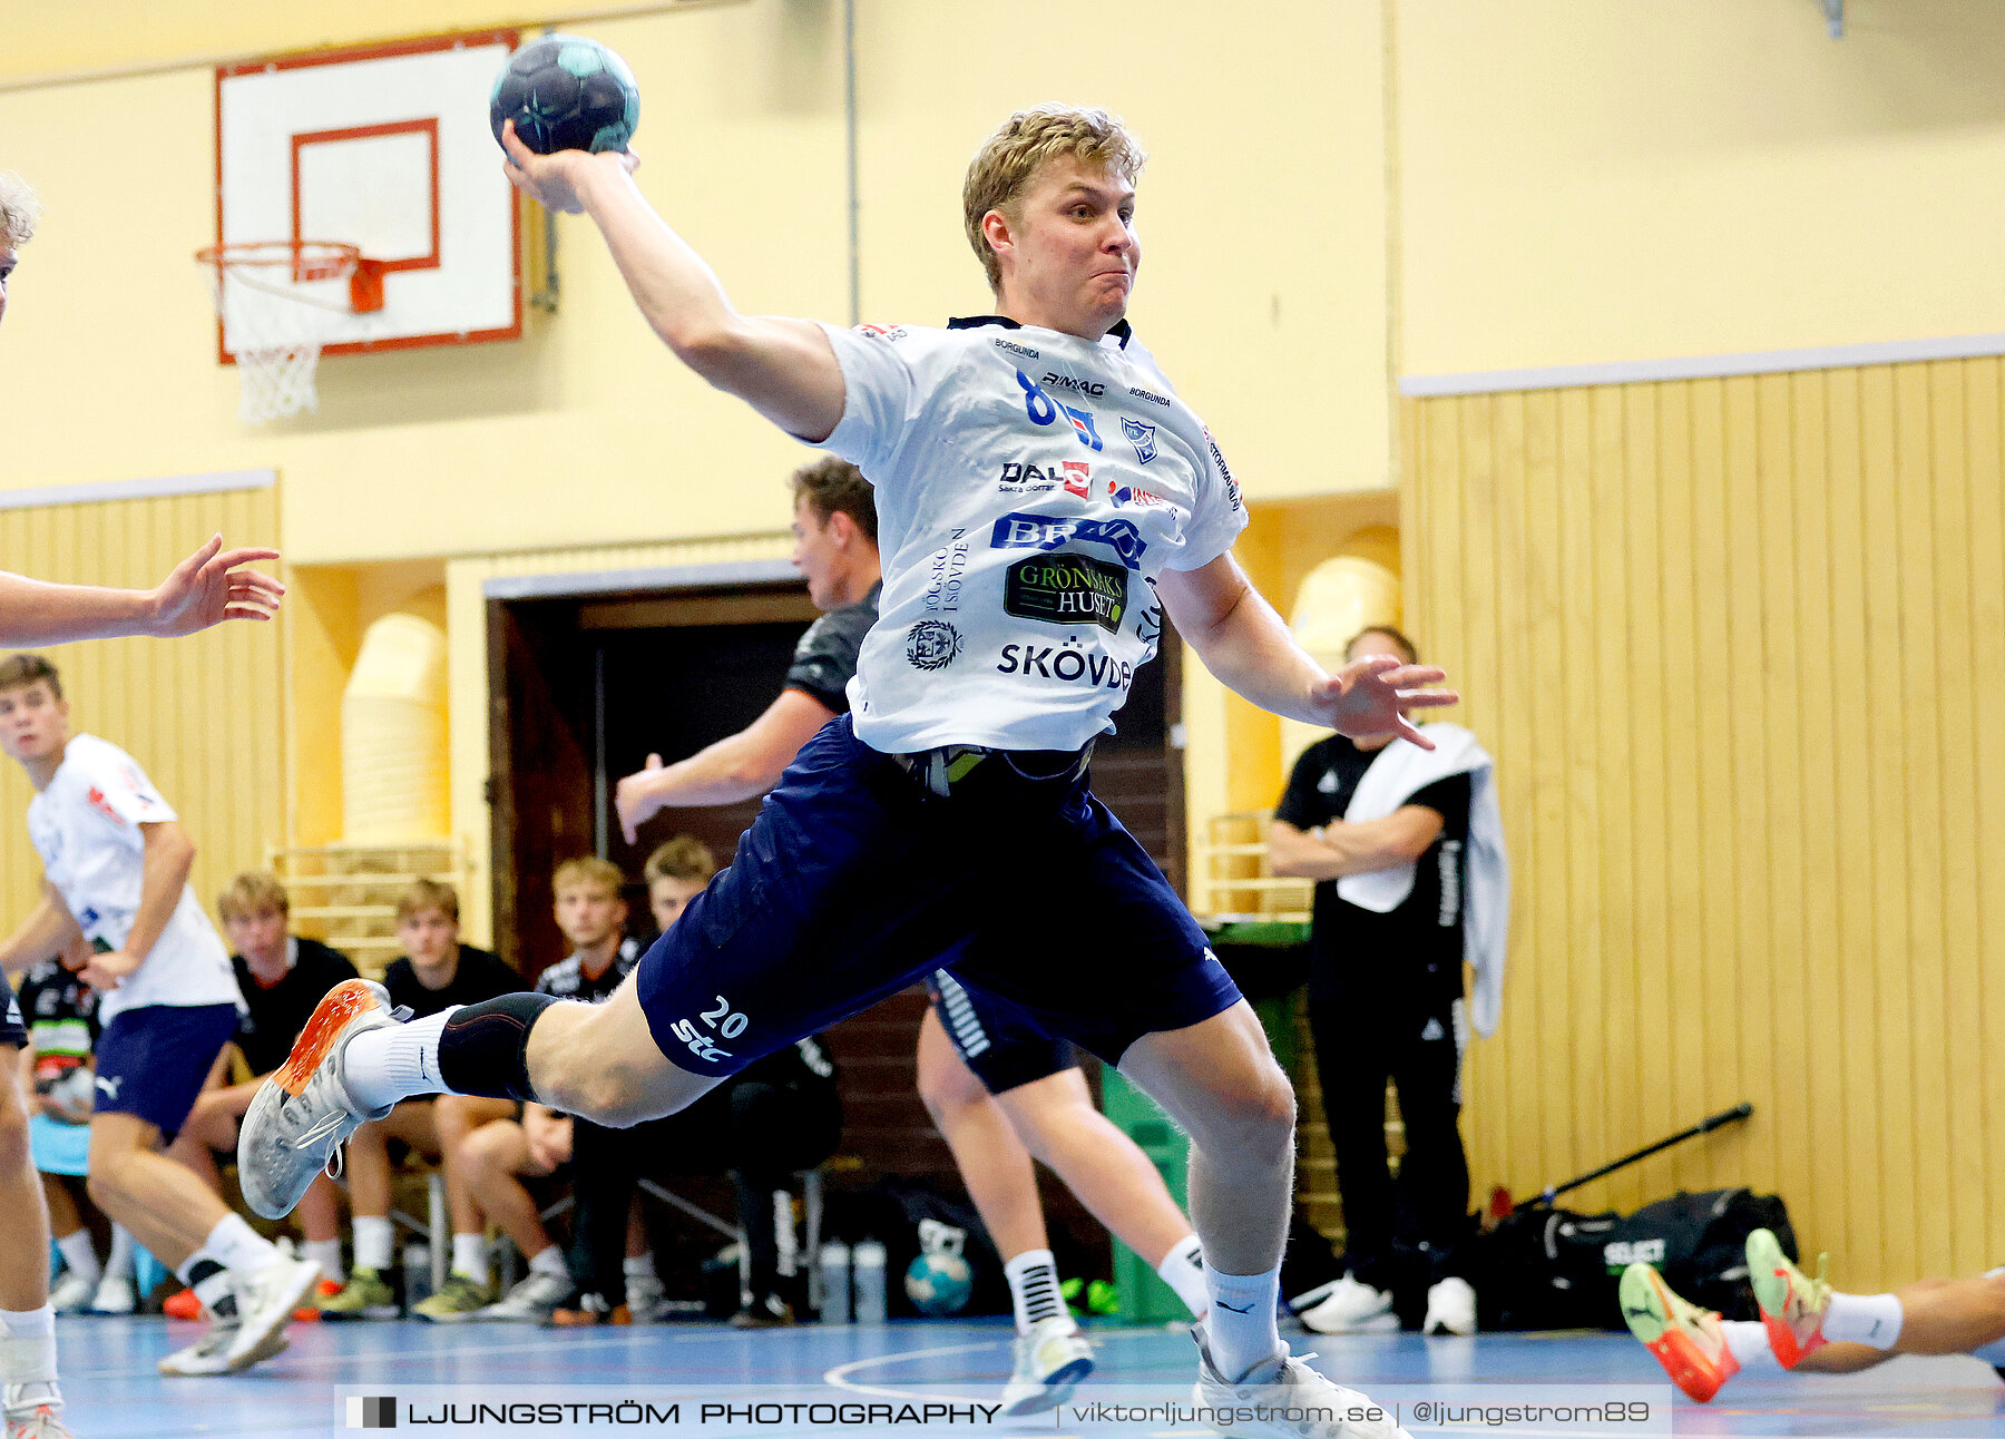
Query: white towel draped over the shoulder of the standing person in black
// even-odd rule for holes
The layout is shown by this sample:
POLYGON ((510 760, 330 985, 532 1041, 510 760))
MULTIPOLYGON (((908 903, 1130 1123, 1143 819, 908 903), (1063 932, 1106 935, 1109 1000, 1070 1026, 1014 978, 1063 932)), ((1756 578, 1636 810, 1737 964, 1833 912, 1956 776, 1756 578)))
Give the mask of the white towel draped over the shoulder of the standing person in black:
MULTIPOLYGON (((1470 776, 1468 890, 1462 898, 1462 958, 1476 970, 1470 1018, 1482 1036, 1496 1034, 1504 1010, 1504 950, 1510 940, 1510 860, 1504 854, 1504 814, 1492 778, 1496 762, 1476 736, 1456 724, 1428 726, 1434 750, 1393 740, 1357 782, 1345 822, 1383 820, 1438 780, 1470 776)), ((1387 914, 1414 892, 1414 866, 1347 874, 1337 894, 1359 910, 1387 914)))

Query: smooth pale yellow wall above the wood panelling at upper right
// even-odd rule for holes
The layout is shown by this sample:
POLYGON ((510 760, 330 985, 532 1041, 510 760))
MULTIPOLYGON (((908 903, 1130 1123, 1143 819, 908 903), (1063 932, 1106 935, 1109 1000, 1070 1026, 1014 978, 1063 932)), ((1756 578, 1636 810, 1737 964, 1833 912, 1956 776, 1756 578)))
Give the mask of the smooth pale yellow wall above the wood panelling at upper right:
POLYGON ((1391 0, 1406 375, 2005 331, 2005 6, 1391 0))

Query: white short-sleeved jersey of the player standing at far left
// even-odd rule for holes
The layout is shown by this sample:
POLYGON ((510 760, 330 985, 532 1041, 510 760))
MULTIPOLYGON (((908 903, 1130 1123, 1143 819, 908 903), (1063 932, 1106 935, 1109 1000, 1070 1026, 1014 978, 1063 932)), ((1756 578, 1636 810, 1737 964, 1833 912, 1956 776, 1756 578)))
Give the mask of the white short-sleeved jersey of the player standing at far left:
MULTIPOLYGON (((140 826, 174 818, 132 756, 96 736, 70 738, 56 778, 28 802, 28 838, 84 938, 114 950, 126 942, 146 862, 140 826)), ((186 884, 146 960, 98 998, 98 1020, 146 1004, 243 1008, 231 954, 186 884)))

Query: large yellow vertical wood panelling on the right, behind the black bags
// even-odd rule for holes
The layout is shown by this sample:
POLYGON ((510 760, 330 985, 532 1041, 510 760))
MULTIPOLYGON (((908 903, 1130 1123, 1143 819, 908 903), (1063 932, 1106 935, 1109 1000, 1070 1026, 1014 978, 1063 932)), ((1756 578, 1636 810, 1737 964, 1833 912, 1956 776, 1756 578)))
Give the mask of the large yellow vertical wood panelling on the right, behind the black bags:
POLYGON ((1408 585, 1498 758, 1478 1184, 1780 1192, 1845 1285, 2005 1243, 2005 369, 1406 405, 1408 585))

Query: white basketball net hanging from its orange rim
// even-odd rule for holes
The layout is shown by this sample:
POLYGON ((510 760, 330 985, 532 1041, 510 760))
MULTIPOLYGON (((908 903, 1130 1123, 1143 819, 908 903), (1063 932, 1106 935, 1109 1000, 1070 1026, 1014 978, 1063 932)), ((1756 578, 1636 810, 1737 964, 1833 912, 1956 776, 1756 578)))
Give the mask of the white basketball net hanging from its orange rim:
POLYGON ((317 411, 321 347, 339 321, 383 309, 383 271, 355 245, 263 241, 194 253, 237 359, 247 425, 317 411))

